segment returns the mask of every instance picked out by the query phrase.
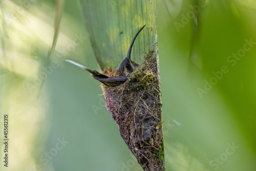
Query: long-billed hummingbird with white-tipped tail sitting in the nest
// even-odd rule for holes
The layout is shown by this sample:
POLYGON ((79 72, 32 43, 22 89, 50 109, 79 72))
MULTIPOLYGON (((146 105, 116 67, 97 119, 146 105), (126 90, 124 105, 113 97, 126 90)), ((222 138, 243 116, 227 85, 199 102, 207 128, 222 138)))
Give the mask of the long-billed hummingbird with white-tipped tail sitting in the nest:
POLYGON ((84 70, 87 70, 88 72, 90 72, 92 74, 92 76, 97 79, 98 81, 102 82, 103 84, 105 84, 106 86, 110 86, 110 87, 114 87, 114 86, 119 86, 120 84, 124 83, 127 80, 127 77, 129 76, 129 74, 131 74, 133 71, 135 71, 135 69, 139 66, 138 63, 136 63, 135 61, 131 60, 131 52, 132 52, 132 48, 133 48, 133 44, 134 41, 136 39, 136 37, 138 36, 138 34, 140 33, 140 31, 145 27, 146 25, 144 25, 143 27, 140 28, 140 30, 135 34, 135 36, 133 37, 133 40, 131 42, 131 45, 129 47, 128 53, 126 58, 122 61, 119 70, 118 70, 118 75, 119 76, 114 76, 114 77, 108 77, 104 74, 100 74, 98 71, 92 71, 90 69, 88 69, 87 67, 82 66, 81 64, 74 62, 72 60, 66 59, 67 62, 70 62, 84 70))

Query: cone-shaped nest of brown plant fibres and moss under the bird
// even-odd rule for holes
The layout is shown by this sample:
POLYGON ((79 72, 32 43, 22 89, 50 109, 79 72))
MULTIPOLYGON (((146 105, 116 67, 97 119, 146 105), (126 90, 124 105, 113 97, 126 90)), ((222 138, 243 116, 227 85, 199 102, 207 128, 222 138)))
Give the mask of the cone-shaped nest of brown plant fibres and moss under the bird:
MULTIPOLYGON (((162 103, 157 54, 148 51, 142 64, 117 87, 101 84, 106 108, 144 170, 165 170, 162 103)), ((114 71, 105 74, 114 76, 114 71), (111 74, 112 73, 112 74, 111 74)))

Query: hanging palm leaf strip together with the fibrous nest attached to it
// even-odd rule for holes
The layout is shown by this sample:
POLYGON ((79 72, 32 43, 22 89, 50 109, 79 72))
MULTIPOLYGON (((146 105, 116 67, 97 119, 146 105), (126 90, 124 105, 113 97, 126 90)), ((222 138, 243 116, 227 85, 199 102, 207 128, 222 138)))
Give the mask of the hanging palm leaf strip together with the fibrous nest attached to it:
POLYGON ((81 0, 81 8, 101 70, 117 69, 134 35, 146 25, 131 54, 136 62, 143 59, 141 66, 120 86, 101 88, 106 108, 138 163, 144 170, 165 170, 155 1, 81 0))

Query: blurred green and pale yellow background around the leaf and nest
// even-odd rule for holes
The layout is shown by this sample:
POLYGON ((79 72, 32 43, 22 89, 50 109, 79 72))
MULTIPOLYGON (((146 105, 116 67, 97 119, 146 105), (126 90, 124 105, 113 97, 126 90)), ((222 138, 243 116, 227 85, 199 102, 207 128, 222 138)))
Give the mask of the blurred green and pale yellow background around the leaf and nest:
MULTIPOLYGON (((104 3, 113 2, 122 3, 104 3)), ((256 170, 256 3, 200 3, 156 0, 166 170, 256 170)), ((10 127, 9 167, 0 170, 142 170, 99 82, 63 61, 99 70, 79 1, 66 1, 45 69, 55 3, 0 5, 0 119, 8 114, 10 127)))

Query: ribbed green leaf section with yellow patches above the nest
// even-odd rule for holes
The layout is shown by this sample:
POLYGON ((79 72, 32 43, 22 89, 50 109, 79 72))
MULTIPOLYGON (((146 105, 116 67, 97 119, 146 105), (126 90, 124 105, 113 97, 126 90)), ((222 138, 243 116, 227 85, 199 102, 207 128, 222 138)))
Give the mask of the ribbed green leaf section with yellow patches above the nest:
POLYGON ((155 1, 81 0, 84 22, 101 70, 117 69, 126 57, 131 41, 140 32, 132 49, 132 60, 140 62, 143 52, 156 42, 155 1))

